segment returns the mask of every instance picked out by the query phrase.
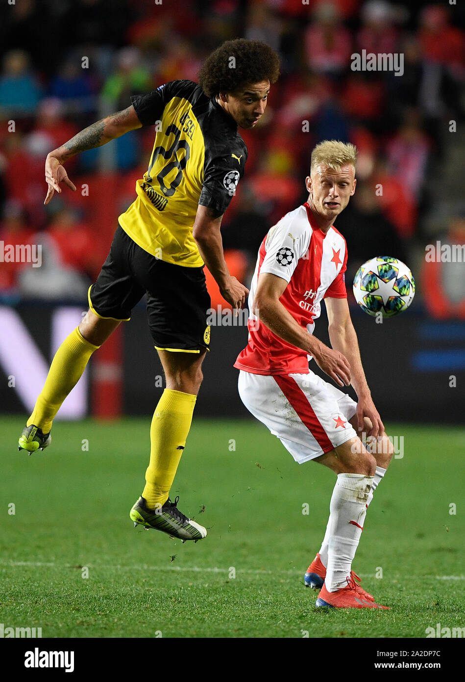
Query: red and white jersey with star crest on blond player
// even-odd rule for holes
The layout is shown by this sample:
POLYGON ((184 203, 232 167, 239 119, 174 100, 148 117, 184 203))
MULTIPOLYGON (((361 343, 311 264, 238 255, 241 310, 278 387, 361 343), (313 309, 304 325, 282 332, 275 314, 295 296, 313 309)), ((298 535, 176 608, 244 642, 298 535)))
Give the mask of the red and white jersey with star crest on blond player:
MULTIPOLYGON (((344 272, 347 246, 333 226, 325 234, 317 226, 308 203, 286 213, 259 248, 248 310, 253 309, 260 273, 269 272, 288 282, 280 303, 308 333, 313 333, 325 297, 347 298, 344 272)), ((249 313, 248 344, 234 367, 253 374, 308 374, 305 351, 272 333, 249 313)))

